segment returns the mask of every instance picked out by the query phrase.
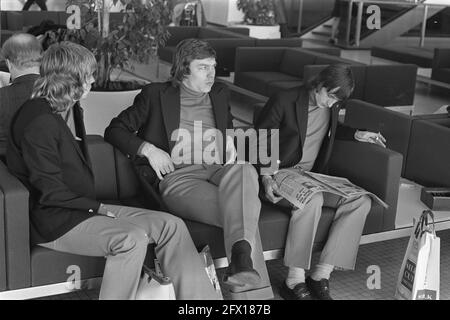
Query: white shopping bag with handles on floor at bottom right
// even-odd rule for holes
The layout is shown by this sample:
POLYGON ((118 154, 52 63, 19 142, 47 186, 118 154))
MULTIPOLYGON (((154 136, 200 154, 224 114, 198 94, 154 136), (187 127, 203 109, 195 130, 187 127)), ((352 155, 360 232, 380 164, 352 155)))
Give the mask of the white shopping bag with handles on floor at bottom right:
POLYGON ((409 238, 398 276, 395 297, 401 300, 439 300, 440 239, 434 217, 424 210, 409 238), (429 223, 428 218, 431 218, 429 223))

